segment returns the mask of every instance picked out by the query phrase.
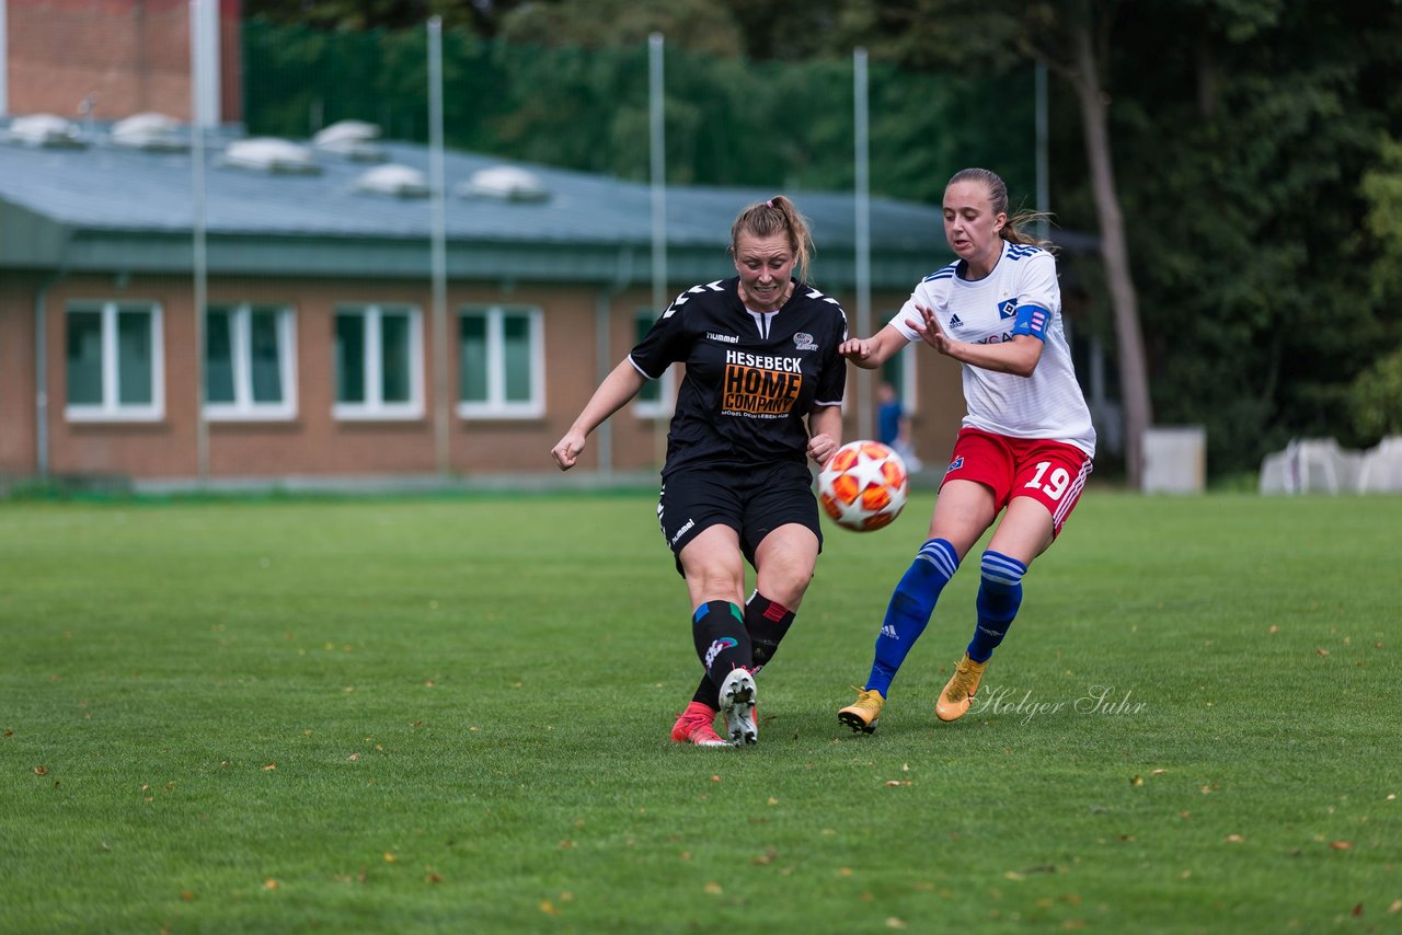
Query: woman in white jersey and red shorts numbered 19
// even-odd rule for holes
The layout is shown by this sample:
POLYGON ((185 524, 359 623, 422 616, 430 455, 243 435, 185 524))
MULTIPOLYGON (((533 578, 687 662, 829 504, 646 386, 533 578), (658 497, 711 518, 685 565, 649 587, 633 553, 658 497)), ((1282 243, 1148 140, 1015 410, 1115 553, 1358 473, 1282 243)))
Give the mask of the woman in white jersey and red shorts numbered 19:
POLYGON ((924 341, 959 362, 969 414, 939 486, 930 534, 890 597, 871 676, 837 712, 872 733, 890 683, 924 632, 939 592, 998 514, 979 559, 973 639, 935 702, 941 721, 969 711, 984 666, 1022 603, 1022 576, 1061 531, 1095 456, 1095 429, 1061 328, 1056 259, 1008 216, 1008 189, 983 168, 945 186, 945 237, 958 261, 916 286, 890 324, 841 353, 875 369, 924 341))

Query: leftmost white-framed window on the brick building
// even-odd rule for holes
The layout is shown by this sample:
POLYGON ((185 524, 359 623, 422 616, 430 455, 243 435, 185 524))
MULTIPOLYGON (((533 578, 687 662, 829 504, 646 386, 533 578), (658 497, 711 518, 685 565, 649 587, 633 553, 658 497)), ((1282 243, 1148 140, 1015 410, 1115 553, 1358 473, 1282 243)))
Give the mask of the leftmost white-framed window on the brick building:
POLYGON ((161 310, 153 303, 67 307, 67 408, 74 421, 163 418, 161 310))

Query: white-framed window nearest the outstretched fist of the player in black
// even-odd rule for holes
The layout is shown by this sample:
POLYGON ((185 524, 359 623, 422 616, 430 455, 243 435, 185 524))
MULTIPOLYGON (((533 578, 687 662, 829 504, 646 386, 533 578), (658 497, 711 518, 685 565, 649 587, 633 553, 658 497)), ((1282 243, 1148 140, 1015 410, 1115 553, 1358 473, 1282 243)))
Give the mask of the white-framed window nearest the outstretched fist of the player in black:
POLYGON ((544 415, 544 343, 538 308, 464 308, 458 317, 458 415, 544 415))

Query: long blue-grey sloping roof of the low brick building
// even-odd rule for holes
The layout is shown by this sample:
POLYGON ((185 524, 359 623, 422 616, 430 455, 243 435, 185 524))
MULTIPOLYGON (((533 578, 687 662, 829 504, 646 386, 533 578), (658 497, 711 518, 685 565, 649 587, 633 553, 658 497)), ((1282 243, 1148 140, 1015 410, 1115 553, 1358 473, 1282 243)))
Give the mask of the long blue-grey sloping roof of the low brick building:
MULTIPOLYGON (((121 144, 108 128, 83 128, 76 142, 43 146, 0 123, 0 269, 189 272, 196 203, 189 135, 161 139, 140 147, 121 144)), ((429 175, 425 146, 373 140, 332 151, 248 143, 220 133, 205 147, 212 275, 429 273, 433 207, 414 181, 429 175), (404 184, 407 193, 366 191, 373 182, 362 179, 376 168, 366 156, 380 161, 381 184, 404 184), (275 168, 241 165, 250 158, 275 168), (386 163, 395 171, 384 172, 386 163)), ((649 185, 460 151, 443 154, 443 172, 450 278, 613 285, 651 278, 649 185)), ((730 275, 730 223, 774 193, 669 186, 669 279, 730 275)), ((787 193, 812 221, 815 282, 854 285, 852 193, 787 193)), ((948 262, 941 223, 938 207, 871 199, 872 286, 907 289, 948 262)))

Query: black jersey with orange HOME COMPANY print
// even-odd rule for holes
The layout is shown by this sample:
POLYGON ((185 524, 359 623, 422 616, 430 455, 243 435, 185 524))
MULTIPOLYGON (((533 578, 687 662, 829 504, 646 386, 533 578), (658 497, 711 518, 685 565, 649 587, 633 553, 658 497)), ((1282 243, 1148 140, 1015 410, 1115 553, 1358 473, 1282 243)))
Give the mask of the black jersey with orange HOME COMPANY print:
POLYGON ((794 282, 784 307, 754 313, 740 279, 694 286, 667 306, 628 359, 655 380, 687 366, 667 432, 667 464, 753 468, 806 458, 805 418, 813 407, 841 405, 847 313, 836 299, 794 282))

